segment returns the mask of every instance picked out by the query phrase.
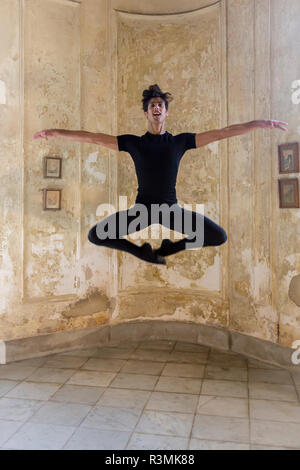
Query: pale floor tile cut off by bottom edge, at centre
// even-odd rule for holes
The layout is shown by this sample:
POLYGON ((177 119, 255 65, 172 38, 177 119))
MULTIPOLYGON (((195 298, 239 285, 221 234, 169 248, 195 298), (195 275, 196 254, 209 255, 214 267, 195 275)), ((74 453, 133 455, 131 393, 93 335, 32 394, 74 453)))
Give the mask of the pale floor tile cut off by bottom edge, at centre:
POLYGON ((185 450, 187 445, 184 437, 133 433, 126 450, 185 450))

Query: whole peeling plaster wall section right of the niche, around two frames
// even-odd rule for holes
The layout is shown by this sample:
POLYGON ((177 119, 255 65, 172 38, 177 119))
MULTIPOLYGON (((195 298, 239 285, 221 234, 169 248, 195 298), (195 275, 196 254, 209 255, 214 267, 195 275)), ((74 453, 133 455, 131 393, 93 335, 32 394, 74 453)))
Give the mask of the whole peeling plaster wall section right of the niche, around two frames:
POLYGON ((299 209, 279 209, 278 145, 299 142, 291 100, 299 19, 296 0, 228 2, 229 123, 269 116, 289 123, 286 133, 229 141, 230 328, 285 346, 300 337, 299 306, 288 295, 299 274, 299 209))

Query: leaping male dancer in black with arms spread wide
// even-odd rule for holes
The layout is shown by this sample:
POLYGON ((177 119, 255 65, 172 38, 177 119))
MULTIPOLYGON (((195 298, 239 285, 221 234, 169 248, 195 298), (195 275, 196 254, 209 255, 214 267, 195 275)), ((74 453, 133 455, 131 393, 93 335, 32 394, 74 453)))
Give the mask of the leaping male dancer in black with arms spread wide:
POLYGON ((259 120, 199 134, 182 133, 173 136, 165 130, 168 106, 172 99, 172 95, 163 93, 157 84, 143 91, 142 104, 148 121, 148 131, 142 136, 132 134, 111 136, 64 129, 46 129, 34 135, 35 139, 61 137, 94 143, 112 150, 125 151, 131 155, 139 185, 135 205, 127 211, 119 211, 103 219, 90 229, 88 238, 96 245, 126 251, 154 264, 166 264, 165 256, 188 249, 188 247, 218 246, 227 240, 227 234, 222 227, 208 217, 198 212, 187 211, 177 204, 175 186, 180 160, 184 153, 189 149, 203 147, 211 142, 245 134, 259 128, 286 131, 288 125, 281 121, 259 120), (159 218, 155 220, 151 210, 154 205, 164 208, 159 212, 159 218), (167 210, 167 217, 164 217, 166 208, 170 210, 167 210), (144 217, 139 224, 135 223, 136 212, 143 212, 144 217), (180 226, 177 223, 179 219, 181 220, 180 226), (187 234, 188 237, 177 242, 164 239, 157 250, 153 250, 149 243, 144 243, 139 247, 123 238, 152 223, 163 224, 171 230, 175 229, 187 234), (114 227, 113 234, 110 229, 106 230, 107 227, 112 226, 114 227), (202 237, 198 233, 199 227, 202 229, 202 237), (200 243, 199 239, 201 239, 200 243))

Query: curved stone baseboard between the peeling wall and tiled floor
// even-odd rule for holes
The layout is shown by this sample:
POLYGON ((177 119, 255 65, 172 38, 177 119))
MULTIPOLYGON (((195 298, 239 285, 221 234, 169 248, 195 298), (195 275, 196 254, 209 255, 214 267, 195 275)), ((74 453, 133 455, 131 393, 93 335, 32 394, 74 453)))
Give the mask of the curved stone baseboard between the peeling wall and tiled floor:
POLYGON ((248 358, 300 371, 294 365, 292 348, 214 325, 178 321, 128 321, 83 330, 0 341, 0 364, 48 356, 76 349, 112 346, 126 341, 184 341, 232 351, 248 358))

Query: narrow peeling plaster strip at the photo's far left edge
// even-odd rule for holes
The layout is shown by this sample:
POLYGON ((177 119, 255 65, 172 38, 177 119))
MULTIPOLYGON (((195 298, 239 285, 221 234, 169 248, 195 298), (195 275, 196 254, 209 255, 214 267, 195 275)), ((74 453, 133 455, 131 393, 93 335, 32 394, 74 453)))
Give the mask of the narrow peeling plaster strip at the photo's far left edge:
POLYGON ((21 290, 22 90, 18 6, 18 0, 0 3, 0 322, 20 302, 21 290))

